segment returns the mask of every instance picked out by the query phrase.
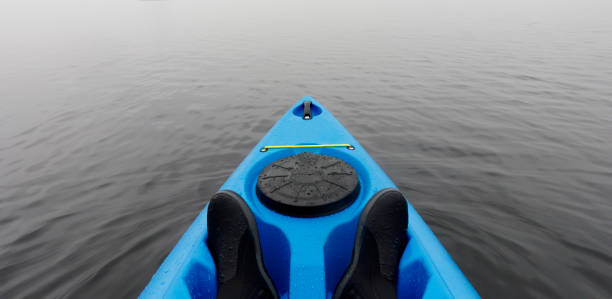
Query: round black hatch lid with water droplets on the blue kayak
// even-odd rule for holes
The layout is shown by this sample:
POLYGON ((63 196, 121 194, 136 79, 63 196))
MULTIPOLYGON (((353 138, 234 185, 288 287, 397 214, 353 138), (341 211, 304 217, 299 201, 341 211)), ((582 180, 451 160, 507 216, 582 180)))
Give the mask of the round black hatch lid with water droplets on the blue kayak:
POLYGON ((257 178, 257 196, 268 208, 296 217, 340 211, 359 194, 351 165, 335 157, 301 153, 270 163, 257 178))

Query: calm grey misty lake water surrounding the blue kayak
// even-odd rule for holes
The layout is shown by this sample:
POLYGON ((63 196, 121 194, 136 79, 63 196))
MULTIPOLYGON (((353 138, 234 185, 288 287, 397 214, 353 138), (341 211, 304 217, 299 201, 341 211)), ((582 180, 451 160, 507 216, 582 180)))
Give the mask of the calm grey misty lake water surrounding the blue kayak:
POLYGON ((609 1, 4 1, 0 298, 135 297, 316 97, 489 298, 612 297, 609 1))

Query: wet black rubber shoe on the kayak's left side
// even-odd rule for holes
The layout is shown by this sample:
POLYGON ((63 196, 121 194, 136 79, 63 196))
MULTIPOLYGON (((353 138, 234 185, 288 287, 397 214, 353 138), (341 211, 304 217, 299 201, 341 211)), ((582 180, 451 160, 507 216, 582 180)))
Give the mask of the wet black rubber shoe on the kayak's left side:
POLYGON ((255 217, 240 195, 215 194, 207 221, 207 245, 217 268, 217 299, 278 298, 264 267, 255 217))

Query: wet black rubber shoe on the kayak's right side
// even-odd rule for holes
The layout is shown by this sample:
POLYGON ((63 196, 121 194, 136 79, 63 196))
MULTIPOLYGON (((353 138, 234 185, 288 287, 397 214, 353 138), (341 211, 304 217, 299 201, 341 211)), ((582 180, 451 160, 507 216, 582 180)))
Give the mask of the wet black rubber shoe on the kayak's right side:
POLYGON ((397 298, 407 227, 408 205, 402 194, 395 189, 376 193, 359 217, 353 257, 333 298, 397 298))

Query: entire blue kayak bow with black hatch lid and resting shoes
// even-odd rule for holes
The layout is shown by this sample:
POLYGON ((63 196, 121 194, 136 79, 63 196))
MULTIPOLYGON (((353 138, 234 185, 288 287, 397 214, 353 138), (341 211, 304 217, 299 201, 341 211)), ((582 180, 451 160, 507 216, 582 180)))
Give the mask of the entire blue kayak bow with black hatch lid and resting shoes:
POLYGON ((220 296, 222 284, 230 294, 241 288, 227 282, 230 276, 257 270, 257 283, 269 291, 246 297, 479 298, 393 182, 311 97, 291 107, 251 150, 140 298, 236 297, 220 296), (224 214, 232 209, 242 220, 224 214), (239 230, 248 238, 231 236, 239 230), (250 253, 231 261, 247 247, 250 253), (243 264, 252 266, 241 270, 249 267, 243 264), (359 275, 373 277, 373 286, 359 275), (378 295, 363 295, 372 290, 378 295), (262 296, 268 292, 274 294, 262 296))

